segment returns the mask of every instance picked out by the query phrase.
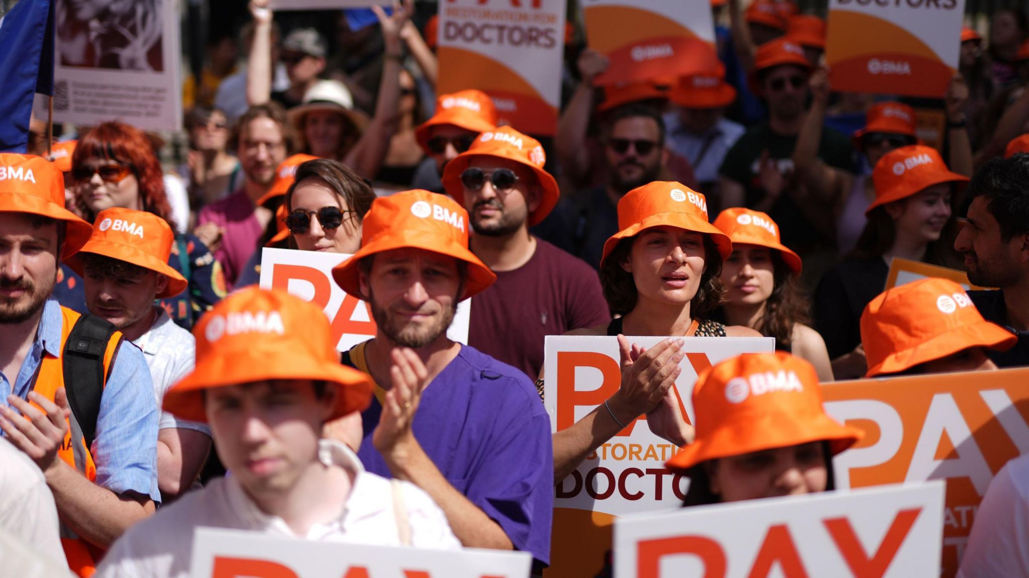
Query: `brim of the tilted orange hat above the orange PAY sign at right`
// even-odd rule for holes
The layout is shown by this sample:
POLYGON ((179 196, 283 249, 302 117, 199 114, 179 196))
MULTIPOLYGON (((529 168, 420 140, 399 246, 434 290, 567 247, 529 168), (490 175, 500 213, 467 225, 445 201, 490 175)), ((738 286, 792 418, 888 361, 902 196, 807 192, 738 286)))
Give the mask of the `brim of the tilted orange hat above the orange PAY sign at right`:
POLYGON ((1018 335, 989 321, 977 321, 955 327, 904 351, 894 352, 868 367, 865 377, 883 373, 898 373, 927 361, 942 359, 968 348, 982 347, 1007 351, 1019 340, 1018 335))

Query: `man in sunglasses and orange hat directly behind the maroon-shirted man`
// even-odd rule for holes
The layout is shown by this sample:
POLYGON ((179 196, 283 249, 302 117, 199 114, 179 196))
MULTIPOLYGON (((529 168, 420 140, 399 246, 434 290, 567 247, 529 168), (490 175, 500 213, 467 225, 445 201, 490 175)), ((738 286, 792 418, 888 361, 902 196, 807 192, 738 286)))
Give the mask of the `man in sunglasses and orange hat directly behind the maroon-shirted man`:
POLYGON ((497 108, 482 91, 441 95, 436 113, 415 130, 419 146, 428 154, 415 173, 412 187, 445 192, 440 178, 447 164, 468 150, 480 133, 497 127, 497 108))

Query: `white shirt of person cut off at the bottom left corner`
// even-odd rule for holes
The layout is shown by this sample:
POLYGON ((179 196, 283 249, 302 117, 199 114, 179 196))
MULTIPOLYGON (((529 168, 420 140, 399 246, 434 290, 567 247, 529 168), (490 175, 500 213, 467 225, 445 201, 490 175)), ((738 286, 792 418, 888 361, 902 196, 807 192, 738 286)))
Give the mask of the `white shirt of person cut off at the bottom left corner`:
POLYGON ((58 508, 46 478, 35 462, 4 437, 0 437, 0 530, 29 544, 42 557, 68 567, 58 508))

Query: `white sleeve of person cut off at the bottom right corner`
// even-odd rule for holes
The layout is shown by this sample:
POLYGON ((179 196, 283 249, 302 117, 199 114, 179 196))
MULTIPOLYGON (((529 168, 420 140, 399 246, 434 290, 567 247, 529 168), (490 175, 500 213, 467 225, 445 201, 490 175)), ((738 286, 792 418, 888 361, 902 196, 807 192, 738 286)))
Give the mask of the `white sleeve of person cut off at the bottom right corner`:
POLYGON ((1029 576, 1029 455, 1000 470, 975 512, 959 578, 1029 576))

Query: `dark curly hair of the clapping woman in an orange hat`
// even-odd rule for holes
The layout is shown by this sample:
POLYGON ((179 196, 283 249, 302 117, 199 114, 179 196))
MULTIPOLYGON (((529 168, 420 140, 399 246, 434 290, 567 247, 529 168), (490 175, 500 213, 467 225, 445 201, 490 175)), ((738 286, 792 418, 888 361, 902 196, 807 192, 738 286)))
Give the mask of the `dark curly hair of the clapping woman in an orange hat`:
MULTIPOLYGON (((639 236, 623 239, 614 246, 614 250, 600 264, 600 284, 604 289, 604 298, 614 315, 626 315, 636 308, 639 292, 633 275, 622 268, 622 263, 629 258, 633 243, 639 236)), ((689 315, 694 319, 707 319, 722 303, 725 297, 725 287, 718 276, 721 275, 721 255, 709 236, 704 236, 704 273, 701 274, 701 285, 697 295, 689 301, 689 315)))

